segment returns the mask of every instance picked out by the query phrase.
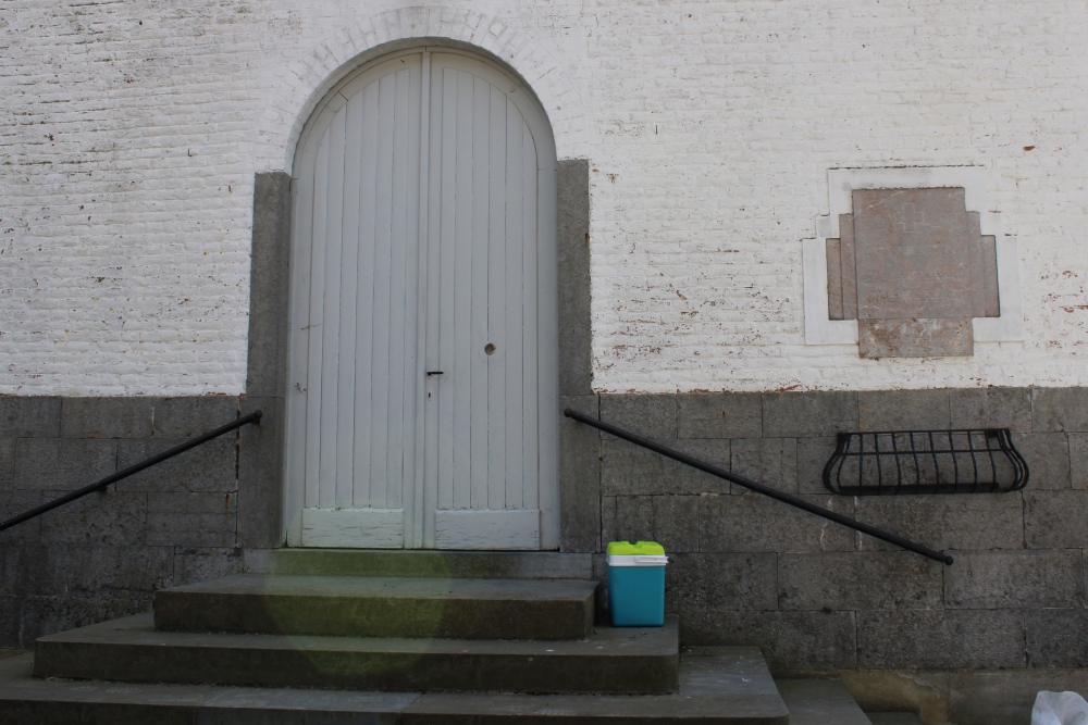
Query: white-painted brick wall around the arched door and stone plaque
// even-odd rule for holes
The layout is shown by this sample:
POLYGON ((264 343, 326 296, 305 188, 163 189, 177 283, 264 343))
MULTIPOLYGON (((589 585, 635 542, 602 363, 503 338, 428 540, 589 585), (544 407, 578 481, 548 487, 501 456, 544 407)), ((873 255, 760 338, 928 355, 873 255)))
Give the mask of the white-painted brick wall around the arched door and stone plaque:
POLYGON ((242 391, 254 173, 334 68, 428 33, 510 57, 590 159, 599 389, 1088 385, 1088 2, 410 4, 0 4, 0 392, 242 391), (827 170, 960 164, 1019 239, 1027 341, 805 346, 827 170))

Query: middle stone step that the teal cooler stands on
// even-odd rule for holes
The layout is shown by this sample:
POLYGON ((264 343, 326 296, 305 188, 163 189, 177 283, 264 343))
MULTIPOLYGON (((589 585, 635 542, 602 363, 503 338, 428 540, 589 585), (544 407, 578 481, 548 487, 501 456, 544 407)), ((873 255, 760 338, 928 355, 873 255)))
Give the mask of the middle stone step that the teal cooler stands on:
POLYGON ((598 627, 583 640, 398 639, 156 632, 151 613, 48 637, 35 675, 69 679, 362 689, 665 693, 679 627, 598 627))

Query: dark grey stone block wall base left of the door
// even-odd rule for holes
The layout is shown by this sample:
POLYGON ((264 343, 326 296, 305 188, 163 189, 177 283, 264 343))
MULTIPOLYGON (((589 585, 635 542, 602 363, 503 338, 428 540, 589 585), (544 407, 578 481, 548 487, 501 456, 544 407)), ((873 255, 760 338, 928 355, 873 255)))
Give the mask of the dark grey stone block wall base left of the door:
MULTIPOLYGON (((0 518, 249 412, 237 396, 0 398, 0 518)), ((274 412, 274 411, 273 411, 274 412)), ((0 647, 145 612, 156 589, 239 571, 276 518, 255 505, 275 417, 0 534, 0 647), (248 505, 239 507, 239 499, 248 505)), ((272 502, 279 507, 279 500, 272 502)))

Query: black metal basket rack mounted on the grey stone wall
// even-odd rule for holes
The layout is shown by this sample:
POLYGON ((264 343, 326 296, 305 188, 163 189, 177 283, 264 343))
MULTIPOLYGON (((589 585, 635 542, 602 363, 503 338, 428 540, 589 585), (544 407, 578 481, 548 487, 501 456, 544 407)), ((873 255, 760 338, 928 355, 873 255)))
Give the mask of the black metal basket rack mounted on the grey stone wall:
POLYGON ((998 493, 1027 485, 1009 428, 840 433, 824 485, 842 496, 998 493))

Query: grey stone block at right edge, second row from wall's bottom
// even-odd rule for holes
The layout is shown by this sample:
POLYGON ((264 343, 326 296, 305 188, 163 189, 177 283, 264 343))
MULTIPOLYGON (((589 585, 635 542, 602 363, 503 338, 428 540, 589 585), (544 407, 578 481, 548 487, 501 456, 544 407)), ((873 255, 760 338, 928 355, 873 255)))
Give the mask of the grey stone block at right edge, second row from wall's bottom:
POLYGON ((953 551, 944 604, 954 609, 1041 609, 1084 604, 1077 550, 953 551))

